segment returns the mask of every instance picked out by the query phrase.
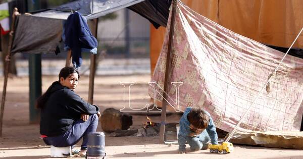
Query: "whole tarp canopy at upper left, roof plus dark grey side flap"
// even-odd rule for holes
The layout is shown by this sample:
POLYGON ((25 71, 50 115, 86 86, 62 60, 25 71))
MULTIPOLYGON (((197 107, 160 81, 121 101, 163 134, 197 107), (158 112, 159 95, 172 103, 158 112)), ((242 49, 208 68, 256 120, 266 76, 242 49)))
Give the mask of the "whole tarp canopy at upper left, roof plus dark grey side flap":
POLYGON ((81 13, 86 19, 94 19, 129 7, 158 28, 167 24, 170 3, 171 0, 78 0, 32 16, 23 15, 17 19, 11 52, 55 52, 61 40, 63 20, 71 11, 81 13))

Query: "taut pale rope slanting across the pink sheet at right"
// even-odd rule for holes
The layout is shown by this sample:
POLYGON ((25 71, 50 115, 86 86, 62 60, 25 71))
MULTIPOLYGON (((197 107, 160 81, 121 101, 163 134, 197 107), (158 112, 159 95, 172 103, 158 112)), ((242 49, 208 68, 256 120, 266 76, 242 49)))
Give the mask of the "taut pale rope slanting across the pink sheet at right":
POLYGON ((255 103, 255 101, 259 98, 259 96, 261 95, 263 89, 267 86, 267 84, 270 82, 271 78, 274 77, 274 74, 277 73, 278 67, 282 64, 282 61, 285 59, 286 55, 288 54, 290 48, 292 47, 292 45, 294 44, 294 42, 297 40, 297 38, 299 37, 299 35, 301 34, 301 32, 303 31, 303 28, 301 29, 301 31, 298 33, 298 35, 296 36, 296 38, 294 39, 294 41, 292 42, 291 46, 288 48, 288 50, 286 51, 284 57, 282 58, 282 60, 280 61, 279 65, 274 69, 274 72, 270 74, 266 84, 263 86, 263 88, 261 89, 261 91, 259 92, 259 94, 255 97, 254 101, 252 101, 252 103, 250 104, 250 106, 248 107, 247 111, 245 112, 245 114, 242 116, 242 118, 240 119, 240 121, 238 122, 238 124, 236 125, 236 127, 232 130, 232 132, 230 133, 230 135, 227 137, 227 139, 225 140, 226 142, 228 142, 230 140, 230 138, 232 137, 232 135, 235 133, 235 131, 237 130, 237 128, 239 127, 239 125, 242 123, 244 117, 248 114, 248 111, 250 110, 251 106, 255 103))

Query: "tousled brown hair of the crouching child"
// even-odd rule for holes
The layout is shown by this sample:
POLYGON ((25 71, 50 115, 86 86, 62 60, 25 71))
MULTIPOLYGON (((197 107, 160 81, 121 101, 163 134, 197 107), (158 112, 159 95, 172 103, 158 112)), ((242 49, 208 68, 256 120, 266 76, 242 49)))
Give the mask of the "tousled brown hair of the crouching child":
POLYGON ((187 120, 197 129, 206 129, 208 127, 210 117, 200 108, 192 108, 187 114, 187 120))

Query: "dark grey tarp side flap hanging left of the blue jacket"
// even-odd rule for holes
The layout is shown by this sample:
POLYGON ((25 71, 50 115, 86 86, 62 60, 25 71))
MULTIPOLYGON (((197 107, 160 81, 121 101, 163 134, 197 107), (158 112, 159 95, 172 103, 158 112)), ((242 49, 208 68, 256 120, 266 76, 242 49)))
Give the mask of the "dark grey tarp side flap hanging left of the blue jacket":
POLYGON ((18 16, 12 54, 55 52, 62 35, 63 21, 28 15, 18 16), (30 23, 29 23, 30 22, 30 23))

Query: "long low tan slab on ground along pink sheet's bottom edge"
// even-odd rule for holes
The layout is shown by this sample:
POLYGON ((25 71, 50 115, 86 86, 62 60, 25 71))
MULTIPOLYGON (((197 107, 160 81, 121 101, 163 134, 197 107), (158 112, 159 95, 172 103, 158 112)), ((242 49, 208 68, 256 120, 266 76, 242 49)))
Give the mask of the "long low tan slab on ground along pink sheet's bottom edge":
POLYGON ((264 147, 303 149, 303 132, 237 131, 229 142, 264 147))

